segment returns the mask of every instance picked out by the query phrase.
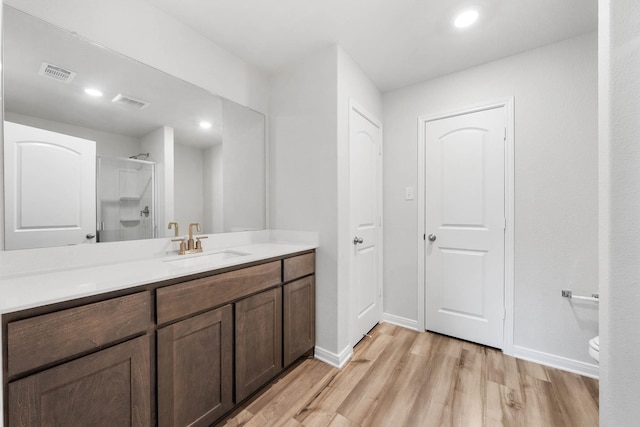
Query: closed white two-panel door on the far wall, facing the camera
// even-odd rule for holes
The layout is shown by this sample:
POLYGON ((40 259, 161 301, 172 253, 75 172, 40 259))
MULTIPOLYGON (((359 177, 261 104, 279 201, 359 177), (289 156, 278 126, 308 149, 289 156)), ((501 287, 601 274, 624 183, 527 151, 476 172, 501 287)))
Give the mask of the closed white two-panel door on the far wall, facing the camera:
POLYGON ((505 108, 426 123, 426 327, 502 348, 505 108))

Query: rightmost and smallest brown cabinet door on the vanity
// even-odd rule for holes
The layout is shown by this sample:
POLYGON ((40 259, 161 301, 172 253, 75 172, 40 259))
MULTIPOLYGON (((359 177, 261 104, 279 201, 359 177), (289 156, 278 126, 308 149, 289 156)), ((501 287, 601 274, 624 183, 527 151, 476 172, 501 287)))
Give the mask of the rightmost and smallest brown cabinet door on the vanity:
POLYGON ((307 276, 283 286, 285 367, 315 345, 315 301, 315 276, 307 276))

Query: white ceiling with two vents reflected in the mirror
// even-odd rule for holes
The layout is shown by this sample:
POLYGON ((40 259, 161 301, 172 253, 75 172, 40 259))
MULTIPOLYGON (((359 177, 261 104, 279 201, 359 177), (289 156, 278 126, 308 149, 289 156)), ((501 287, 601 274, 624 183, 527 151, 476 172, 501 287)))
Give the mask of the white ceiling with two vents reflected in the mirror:
POLYGON ((66 123, 134 138, 169 126, 179 144, 203 148, 221 142, 223 101, 219 97, 6 5, 3 66, 4 108, 9 118, 18 114, 23 121, 39 118, 49 121, 49 126, 66 123), (77 76, 70 83, 43 77, 38 74, 43 61, 77 76), (91 98, 84 94, 85 87, 97 87, 104 96, 91 98), (114 104, 111 100, 118 93, 150 105, 138 110, 114 104), (201 120, 212 127, 201 129, 201 120))

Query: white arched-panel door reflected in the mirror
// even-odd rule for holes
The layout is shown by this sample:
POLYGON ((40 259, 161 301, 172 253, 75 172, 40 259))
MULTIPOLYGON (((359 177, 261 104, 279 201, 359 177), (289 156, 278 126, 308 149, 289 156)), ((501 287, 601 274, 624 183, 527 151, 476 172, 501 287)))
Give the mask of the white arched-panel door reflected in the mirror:
POLYGON ((94 141, 4 122, 5 247, 95 242, 94 141))

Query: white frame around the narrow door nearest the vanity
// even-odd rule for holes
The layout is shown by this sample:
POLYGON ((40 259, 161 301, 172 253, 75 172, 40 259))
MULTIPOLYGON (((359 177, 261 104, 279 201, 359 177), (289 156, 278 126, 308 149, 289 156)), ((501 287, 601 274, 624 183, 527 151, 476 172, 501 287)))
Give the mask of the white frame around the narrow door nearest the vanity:
MULTIPOLYGON (((355 102, 353 99, 349 98, 349 115, 348 117, 351 117, 351 113, 355 112, 356 114, 360 114, 362 117, 364 117, 365 119, 367 119, 368 121, 370 121, 371 123, 373 123, 376 127, 378 127, 378 129, 380 130, 380 155, 378 156, 378 162, 376 165, 376 187, 377 187, 377 191, 378 191, 378 195, 377 195, 377 213, 378 213, 378 227, 377 227, 377 235, 376 235, 376 239, 377 239, 377 267, 378 267, 378 271, 377 271, 377 282, 376 283, 376 289, 378 290, 378 321, 382 321, 382 313, 383 313, 383 292, 382 292, 382 275, 383 275, 383 266, 382 266, 382 262, 383 262, 383 251, 384 251, 384 247, 383 247, 383 240, 382 240, 382 227, 383 227, 383 221, 382 221, 382 210, 383 210, 383 204, 382 204, 382 197, 383 197, 383 192, 382 192, 382 153, 383 153, 383 129, 382 129, 382 122, 380 122, 380 120, 378 120, 376 118, 376 116, 374 116, 373 114, 371 114, 369 111, 367 111, 364 107, 362 107, 360 104, 358 104, 357 102, 355 102)), ((350 119, 349 119, 350 120, 350 119)), ((349 123, 349 138, 348 138, 348 144, 349 144, 349 149, 351 148, 351 123, 349 123)), ((351 157, 349 156, 349 174, 350 174, 350 168, 351 168, 351 157)), ((351 192, 351 182, 349 182, 349 193, 351 192)), ((352 229, 351 229, 351 225, 352 225, 352 211, 351 211, 351 194, 349 194, 349 234, 348 237, 349 239, 353 239, 352 236, 352 229)), ((353 243, 349 243, 349 252, 353 250, 353 243)), ((359 341, 359 339, 356 340, 355 337, 355 330, 356 328, 356 317, 357 317, 357 313, 355 313, 353 311, 353 308, 356 306, 356 301, 357 301, 357 296, 356 296, 356 292, 353 286, 353 276, 354 276, 354 265, 352 262, 352 258, 351 256, 349 256, 349 348, 353 347, 355 344, 357 344, 357 342, 359 341), (354 342, 355 341, 355 342, 354 342)))

